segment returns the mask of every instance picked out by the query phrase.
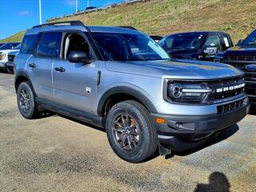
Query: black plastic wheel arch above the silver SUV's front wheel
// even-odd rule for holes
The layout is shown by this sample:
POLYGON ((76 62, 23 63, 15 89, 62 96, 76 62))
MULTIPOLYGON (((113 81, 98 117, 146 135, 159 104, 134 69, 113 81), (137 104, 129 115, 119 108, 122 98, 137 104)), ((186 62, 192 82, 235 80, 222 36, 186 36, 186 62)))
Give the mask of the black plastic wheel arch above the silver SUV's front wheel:
POLYGON ((98 116, 102 117, 106 115, 107 111, 110 110, 108 109, 109 105, 111 106, 126 100, 135 100, 140 102, 150 112, 157 112, 153 102, 151 102, 145 94, 142 94, 139 90, 135 90, 134 88, 118 86, 107 90, 106 93, 102 95, 97 107, 98 116))

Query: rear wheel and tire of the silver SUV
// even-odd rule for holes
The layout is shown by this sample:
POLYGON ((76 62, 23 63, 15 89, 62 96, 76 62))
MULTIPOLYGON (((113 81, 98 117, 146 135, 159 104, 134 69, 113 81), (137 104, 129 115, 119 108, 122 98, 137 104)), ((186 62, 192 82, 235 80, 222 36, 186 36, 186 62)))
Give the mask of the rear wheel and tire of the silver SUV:
POLYGON ((30 82, 22 82, 18 86, 17 104, 18 104, 18 110, 20 111, 20 113, 24 118, 33 119, 38 117, 38 105, 35 102, 35 94, 30 82), (24 97, 22 97, 22 94, 24 95, 24 93, 28 95, 26 97, 27 105, 24 102, 25 100, 24 97))

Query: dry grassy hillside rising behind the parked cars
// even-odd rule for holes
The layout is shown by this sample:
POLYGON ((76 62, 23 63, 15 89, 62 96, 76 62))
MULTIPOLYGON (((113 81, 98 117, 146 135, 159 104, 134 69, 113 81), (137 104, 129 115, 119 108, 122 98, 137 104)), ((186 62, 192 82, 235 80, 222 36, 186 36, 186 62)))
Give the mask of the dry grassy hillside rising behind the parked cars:
MULTIPOLYGON (((256 29, 255 7, 255 0, 150 0, 62 18, 56 22, 81 20, 86 25, 134 26, 148 34, 160 35, 190 30, 221 30, 237 42, 256 29)), ((17 40, 20 40, 19 36, 17 40)))

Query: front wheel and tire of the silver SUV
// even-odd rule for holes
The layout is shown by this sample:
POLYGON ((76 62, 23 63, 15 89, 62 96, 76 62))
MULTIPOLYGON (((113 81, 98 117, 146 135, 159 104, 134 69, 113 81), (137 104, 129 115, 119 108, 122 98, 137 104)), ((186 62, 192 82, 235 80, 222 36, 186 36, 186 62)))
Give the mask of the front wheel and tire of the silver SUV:
POLYGON ((106 134, 114 153, 127 162, 143 162, 146 158, 154 154, 158 146, 157 131, 150 118, 150 113, 142 104, 135 101, 119 102, 110 109, 106 118, 106 134), (121 125, 122 121, 120 118, 124 118, 122 116, 128 120, 127 123, 121 125), (119 123, 118 121, 121 122, 119 123), (130 126, 128 125, 129 122, 130 126), (134 128, 132 131, 130 130, 130 134, 125 133, 126 136, 124 136, 125 129, 122 129, 123 125, 127 125, 125 129, 132 126, 134 128), (120 130, 116 131, 119 128, 120 130), (131 134, 131 132, 133 133, 131 134), (124 139, 118 139, 118 136, 116 136, 117 133, 120 135, 120 138, 124 139), (126 142, 125 137, 127 137, 126 142), (129 144, 128 147, 122 148, 125 143, 127 145, 129 144))

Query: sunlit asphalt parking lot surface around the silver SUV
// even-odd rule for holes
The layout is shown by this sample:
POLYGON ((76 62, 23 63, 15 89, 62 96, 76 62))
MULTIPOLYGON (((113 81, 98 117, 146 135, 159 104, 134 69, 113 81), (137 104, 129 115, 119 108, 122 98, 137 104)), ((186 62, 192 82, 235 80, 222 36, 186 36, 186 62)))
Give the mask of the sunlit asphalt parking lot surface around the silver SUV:
POLYGON ((0 73, 0 191, 255 191, 256 115, 186 154, 130 164, 102 130, 58 115, 26 120, 0 73))

